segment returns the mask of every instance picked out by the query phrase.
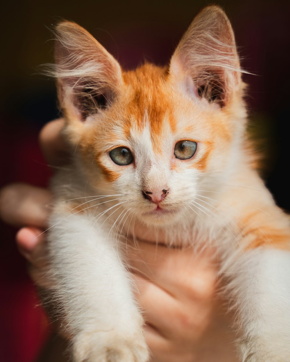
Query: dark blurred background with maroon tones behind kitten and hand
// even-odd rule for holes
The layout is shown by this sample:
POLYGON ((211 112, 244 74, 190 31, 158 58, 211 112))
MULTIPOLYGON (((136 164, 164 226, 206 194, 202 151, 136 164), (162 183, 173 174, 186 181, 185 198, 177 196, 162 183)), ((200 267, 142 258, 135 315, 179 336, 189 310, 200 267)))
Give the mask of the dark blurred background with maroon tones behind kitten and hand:
MULTIPOLYGON (((250 129, 265 154, 264 178, 279 206, 289 198, 290 1, 215 1, 229 16, 247 75, 250 129)), ((145 59, 169 61, 195 14, 211 1, 6 1, 1 5, 0 186, 45 186, 50 175, 37 144, 41 127, 58 117, 54 82, 37 74, 53 62, 49 28, 62 19, 86 28, 124 68, 145 59)), ((33 362, 47 335, 46 320, 17 254, 15 229, 1 225, 1 356, 33 362), (4 351, 4 352, 3 352, 4 351)), ((2 358, 1 357, 1 358, 2 358)))

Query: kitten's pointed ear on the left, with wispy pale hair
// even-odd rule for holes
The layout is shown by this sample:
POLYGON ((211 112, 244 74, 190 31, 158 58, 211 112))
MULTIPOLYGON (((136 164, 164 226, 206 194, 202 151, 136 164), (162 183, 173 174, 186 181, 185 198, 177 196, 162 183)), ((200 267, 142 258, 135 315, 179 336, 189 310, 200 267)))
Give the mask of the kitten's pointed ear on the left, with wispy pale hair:
POLYGON ((55 66, 60 108, 67 119, 85 121, 118 91, 121 68, 111 54, 81 26, 61 22, 55 28, 55 66))

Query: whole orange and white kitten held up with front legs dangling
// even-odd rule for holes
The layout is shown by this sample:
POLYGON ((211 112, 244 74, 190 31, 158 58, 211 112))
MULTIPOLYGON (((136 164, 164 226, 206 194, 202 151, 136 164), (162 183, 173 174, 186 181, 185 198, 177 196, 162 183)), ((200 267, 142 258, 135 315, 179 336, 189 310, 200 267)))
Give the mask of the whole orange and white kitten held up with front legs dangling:
POLYGON ((76 362, 147 362, 124 245, 218 248, 238 310, 241 361, 290 361, 289 217, 255 169, 235 38, 217 6, 169 66, 123 71, 86 30, 55 31, 64 135, 49 253, 76 362))

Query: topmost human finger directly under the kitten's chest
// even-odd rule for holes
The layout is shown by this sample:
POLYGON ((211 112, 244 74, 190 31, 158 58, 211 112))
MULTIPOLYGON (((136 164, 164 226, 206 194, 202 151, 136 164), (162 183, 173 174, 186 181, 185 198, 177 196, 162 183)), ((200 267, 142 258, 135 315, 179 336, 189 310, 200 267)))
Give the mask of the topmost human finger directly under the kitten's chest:
POLYGON ((138 242, 137 248, 128 248, 128 255, 132 271, 154 281, 175 298, 212 298, 217 270, 212 249, 196 252, 192 248, 138 242))

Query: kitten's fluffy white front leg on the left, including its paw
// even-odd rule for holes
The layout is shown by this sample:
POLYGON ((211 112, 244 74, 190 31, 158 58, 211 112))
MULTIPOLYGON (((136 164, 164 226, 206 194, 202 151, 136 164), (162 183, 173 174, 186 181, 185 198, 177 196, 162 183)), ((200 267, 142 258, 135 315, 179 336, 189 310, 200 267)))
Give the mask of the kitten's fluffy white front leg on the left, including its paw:
MULTIPOLYGON (((54 214, 51 221, 59 220, 54 214)), ((74 336, 74 361, 146 362, 129 274, 113 243, 90 220, 70 215, 49 237, 57 301, 74 336)))

